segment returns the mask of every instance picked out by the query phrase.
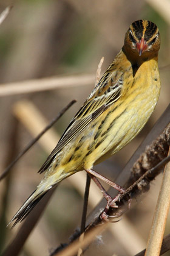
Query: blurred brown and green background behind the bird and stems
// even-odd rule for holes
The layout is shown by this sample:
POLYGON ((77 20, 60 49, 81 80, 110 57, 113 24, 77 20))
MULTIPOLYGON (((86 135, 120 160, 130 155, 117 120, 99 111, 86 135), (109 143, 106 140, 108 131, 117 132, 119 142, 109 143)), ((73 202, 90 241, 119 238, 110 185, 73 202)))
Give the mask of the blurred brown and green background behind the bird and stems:
MULTIPOLYGON (((53 90, 11 95, 9 93, 1 96, 1 172, 33 138, 24 121, 16 123, 14 109, 18 102, 27 99, 49 122, 72 99, 77 99, 77 103, 53 127, 56 136, 59 137, 94 88, 95 73, 101 57, 104 57, 101 71, 103 74, 123 46, 124 34, 133 21, 146 19, 157 24, 161 34, 160 99, 154 114, 140 135, 116 156, 95 167, 95 170, 114 179, 169 104, 169 1, 1 0, 0 12, 11 4, 13 9, 0 26, 0 83, 4 87, 9 83, 21 81, 23 84, 20 85, 24 87, 24 81, 30 79, 39 79, 41 87, 41 79, 51 76, 78 76, 80 85, 80 75, 94 78, 89 84, 81 86, 63 85, 53 90)), ((37 171, 47 155, 42 144, 37 143, 15 165, 9 176, 1 181, 0 251, 15 238, 19 225, 13 230, 5 226, 41 180, 37 171)), ((142 202, 138 199, 135 207, 131 209, 131 214, 127 216, 143 244, 143 247, 138 247, 138 251, 146 246, 160 182, 161 175, 153 182, 151 190, 144 195, 142 202)), ((80 226, 82 207, 83 197, 80 191, 73 187, 69 180, 64 180, 19 255, 49 255, 60 243, 67 243, 73 230, 80 226)), ((89 212, 90 210, 92 207, 89 207, 89 212)), ((113 229, 119 230, 119 223, 111 225, 114 226, 113 229)), ((166 232, 169 233, 169 230, 170 227, 167 226, 166 232)), ((125 240, 131 240, 129 236, 123 236, 125 240)), ((138 251, 134 251, 134 254, 138 251)), ((89 246, 84 255, 94 253, 132 255, 117 235, 113 235, 109 230, 89 246)))

